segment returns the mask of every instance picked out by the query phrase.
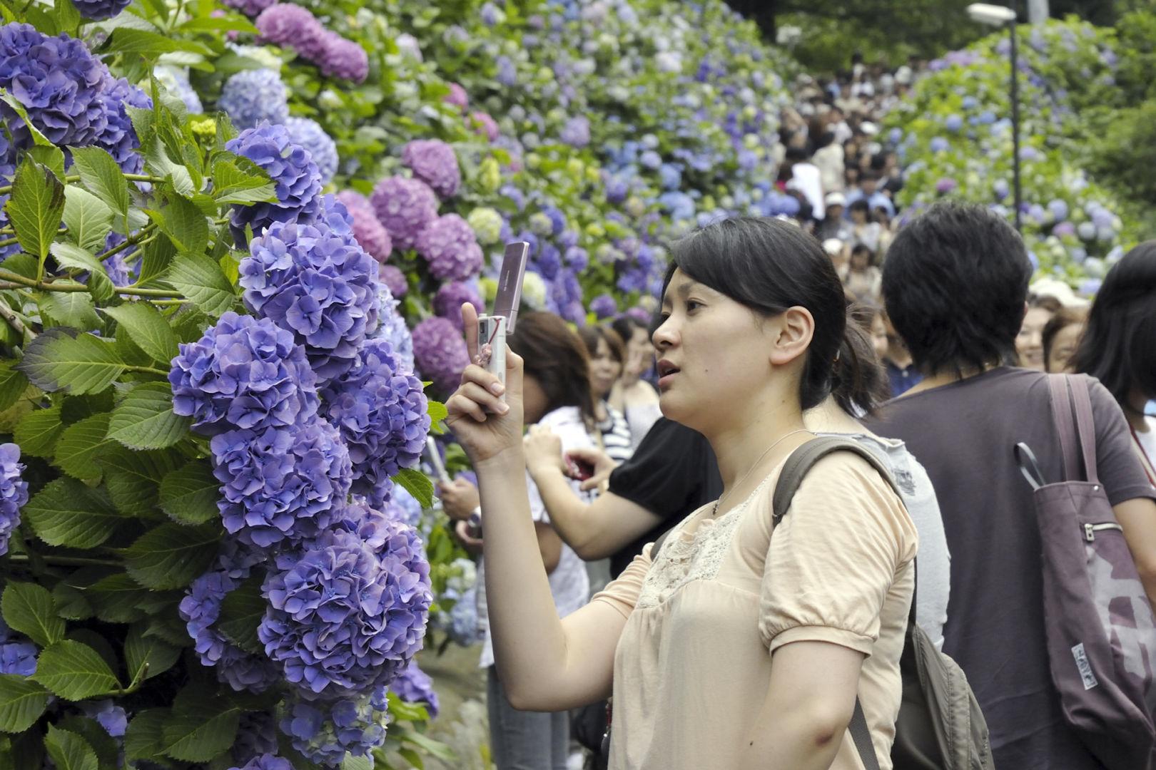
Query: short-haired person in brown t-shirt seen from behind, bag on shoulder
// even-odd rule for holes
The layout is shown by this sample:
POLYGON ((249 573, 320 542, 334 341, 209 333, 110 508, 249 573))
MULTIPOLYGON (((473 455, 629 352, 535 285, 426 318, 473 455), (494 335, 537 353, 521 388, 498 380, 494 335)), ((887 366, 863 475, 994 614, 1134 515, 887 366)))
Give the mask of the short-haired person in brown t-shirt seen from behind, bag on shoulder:
MULTIPOLYGON (((1052 666, 1076 672, 1083 648, 1068 643, 1059 657, 1050 655, 1045 588, 1054 585, 1045 586, 1044 570, 1057 565, 1042 555, 1033 486, 1015 451, 1018 443, 1031 448, 1039 484, 1072 478, 1052 414, 1048 376, 1058 375, 1009 365, 1031 272, 1020 236, 981 205, 939 204, 905 226, 888 253, 883 298, 925 379, 864 421, 905 441, 935 487, 951 552, 943 651, 983 708, 995 767, 1098 770, 1107 765, 1069 724, 1072 709, 1053 682, 1052 666)), ((1112 395, 1074 376, 1089 398, 1091 425, 1081 433, 1096 466, 1085 471, 1098 480, 1088 487, 1106 494, 1135 562, 1151 563, 1156 488, 1112 395)), ((1092 532, 1099 540, 1110 534, 1092 532)), ((1082 569, 1082 533, 1073 526, 1072 536, 1080 547, 1073 566, 1082 569)), ((1080 691, 1102 691, 1092 681, 1080 691)), ((1138 713, 1134 732, 1144 727, 1138 713)))

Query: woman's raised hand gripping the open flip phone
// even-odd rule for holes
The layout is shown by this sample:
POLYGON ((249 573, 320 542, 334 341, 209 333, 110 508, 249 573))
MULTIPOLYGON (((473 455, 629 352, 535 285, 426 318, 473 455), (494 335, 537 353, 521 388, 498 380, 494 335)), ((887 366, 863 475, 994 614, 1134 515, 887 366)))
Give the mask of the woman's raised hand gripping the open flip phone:
MULTIPOLYGON (((477 311, 470 304, 461 306, 466 329, 466 349, 474 361, 461 373, 461 386, 446 402, 446 425, 474 465, 492 459, 507 450, 521 450, 521 358, 506 349, 506 383, 479 365, 477 311), (502 395, 505 394, 505 401, 502 395)), ((523 461, 519 457, 519 463, 523 461)))

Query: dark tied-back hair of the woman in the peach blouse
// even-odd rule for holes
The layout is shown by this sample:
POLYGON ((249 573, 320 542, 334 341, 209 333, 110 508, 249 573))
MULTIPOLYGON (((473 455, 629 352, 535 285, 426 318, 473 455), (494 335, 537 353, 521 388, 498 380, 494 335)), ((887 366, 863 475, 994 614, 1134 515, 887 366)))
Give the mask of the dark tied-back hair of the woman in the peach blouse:
MULTIPOLYGON (((675 269, 763 315, 778 315, 793 306, 815 319, 815 332, 799 384, 803 409, 817 406, 829 394, 847 413, 873 403, 855 401, 861 379, 860 357, 849 341, 843 284, 835 266, 814 237, 778 219, 722 219, 672 247, 666 283, 675 269)), ((868 343, 869 347, 869 343, 868 343)))

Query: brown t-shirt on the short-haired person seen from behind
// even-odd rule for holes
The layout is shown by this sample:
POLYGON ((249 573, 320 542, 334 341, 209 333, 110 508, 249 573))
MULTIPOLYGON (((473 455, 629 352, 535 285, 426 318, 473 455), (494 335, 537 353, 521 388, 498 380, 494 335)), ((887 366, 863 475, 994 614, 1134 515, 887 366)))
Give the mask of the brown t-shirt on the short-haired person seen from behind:
MULTIPOLYGON (((1124 413, 1098 381, 1088 381, 1109 500, 1156 498, 1124 413)), ((995 767, 1015 770, 1101 767, 1067 728, 1052 686, 1039 530, 1031 487, 1013 455, 1016 442, 1025 442, 1045 480, 1062 480, 1050 403, 1046 375, 1000 367, 901 396, 864 420, 905 441, 931 476, 951 552, 943 651, 963 667, 984 709, 995 767)))

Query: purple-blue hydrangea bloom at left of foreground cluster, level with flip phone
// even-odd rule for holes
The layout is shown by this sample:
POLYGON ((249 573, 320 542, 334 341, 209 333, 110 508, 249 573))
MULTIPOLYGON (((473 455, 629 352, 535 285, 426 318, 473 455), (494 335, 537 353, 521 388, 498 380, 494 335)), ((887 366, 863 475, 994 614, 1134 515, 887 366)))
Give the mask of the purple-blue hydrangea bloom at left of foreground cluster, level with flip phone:
POLYGON ((290 427, 317 414, 317 376, 291 331, 228 312, 169 372, 172 410, 199 433, 290 427))

